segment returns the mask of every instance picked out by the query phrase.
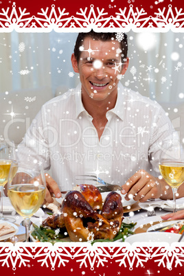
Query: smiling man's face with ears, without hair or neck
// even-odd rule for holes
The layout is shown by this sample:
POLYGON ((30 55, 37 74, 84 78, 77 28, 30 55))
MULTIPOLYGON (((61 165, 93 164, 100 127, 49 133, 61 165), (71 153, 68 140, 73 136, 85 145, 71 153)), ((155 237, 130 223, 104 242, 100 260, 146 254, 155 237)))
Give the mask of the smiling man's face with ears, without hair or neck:
POLYGON ((82 94, 99 101, 116 97, 119 76, 128 67, 128 60, 121 62, 120 43, 86 37, 80 51, 79 62, 75 56, 71 57, 71 62, 74 71, 80 74, 82 94))

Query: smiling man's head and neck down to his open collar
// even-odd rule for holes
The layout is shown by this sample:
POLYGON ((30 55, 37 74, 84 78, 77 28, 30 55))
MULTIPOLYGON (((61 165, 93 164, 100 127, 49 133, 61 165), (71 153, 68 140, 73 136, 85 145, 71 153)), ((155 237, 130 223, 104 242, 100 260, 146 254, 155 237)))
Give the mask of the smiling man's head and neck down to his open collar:
POLYGON ((104 41, 102 34, 99 34, 100 39, 93 32, 84 39, 83 36, 79 34, 71 62, 73 70, 80 75, 82 103, 93 117, 100 139, 108 122, 106 112, 114 108, 117 101, 117 77, 124 75, 128 68, 128 45, 126 34, 122 44, 109 33, 104 34, 104 41))

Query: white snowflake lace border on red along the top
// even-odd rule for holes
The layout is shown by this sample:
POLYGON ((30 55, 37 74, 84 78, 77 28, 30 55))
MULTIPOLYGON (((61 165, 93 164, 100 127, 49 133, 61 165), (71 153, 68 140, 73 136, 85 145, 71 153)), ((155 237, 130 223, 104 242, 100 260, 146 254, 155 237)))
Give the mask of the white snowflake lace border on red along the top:
POLYGON ((119 8, 115 16, 108 15, 104 8, 100 9, 94 5, 86 8, 79 8, 76 15, 69 14, 65 8, 61 9, 56 5, 51 5, 45 9, 41 8, 37 15, 30 16, 25 8, 16 8, 13 2, 12 10, 10 8, 0 10, 0 32, 78 32, 78 31, 97 31, 99 28, 103 32, 128 32, 130 30, 139 32, 148 30, 149 32, 184 32, 184 12, 183 9, 172 7, 158 12, 155 16, 149 16, 144 8, 134 7, 132 4, 129 8, 119 8))

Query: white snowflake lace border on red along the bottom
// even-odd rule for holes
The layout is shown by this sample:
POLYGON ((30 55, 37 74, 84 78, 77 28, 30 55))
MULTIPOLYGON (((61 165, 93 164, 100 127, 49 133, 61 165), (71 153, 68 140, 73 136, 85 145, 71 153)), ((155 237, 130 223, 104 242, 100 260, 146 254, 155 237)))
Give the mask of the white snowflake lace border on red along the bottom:
POLYGON ((184 248, 179 242, 170 246, 166 242, 135 243, 127 242, 1 242, 0 267, 7 266, 15 270, 16 267, 27 266, 36 260, 41 266, 54 270, 56 267, 67 266, 71 261, 76 262, 79 268, 104 267, 108 262, 114 262, 119 267, 128 267, 129 270, 144 266, 153 260, 158 267, 176 268, 184 262, 184 248))

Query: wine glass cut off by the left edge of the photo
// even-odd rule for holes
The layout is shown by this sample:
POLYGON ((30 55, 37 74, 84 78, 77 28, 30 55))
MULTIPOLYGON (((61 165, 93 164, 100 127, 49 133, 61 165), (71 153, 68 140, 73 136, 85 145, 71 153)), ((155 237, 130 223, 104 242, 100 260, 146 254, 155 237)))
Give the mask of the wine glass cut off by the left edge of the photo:
POLYGON ((15 146, 13 141, 0 141, 0 189, 1 189, 1 208, 0 219, 15 222, 14 218, 3 216, 3 188, 8 182, 10 165, 16 160, 15 146))

